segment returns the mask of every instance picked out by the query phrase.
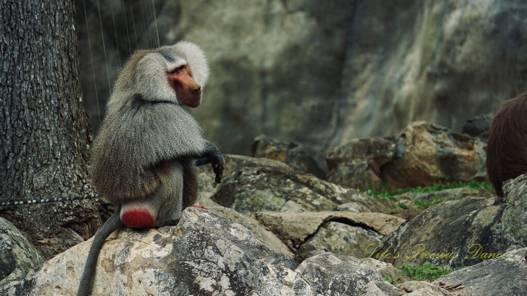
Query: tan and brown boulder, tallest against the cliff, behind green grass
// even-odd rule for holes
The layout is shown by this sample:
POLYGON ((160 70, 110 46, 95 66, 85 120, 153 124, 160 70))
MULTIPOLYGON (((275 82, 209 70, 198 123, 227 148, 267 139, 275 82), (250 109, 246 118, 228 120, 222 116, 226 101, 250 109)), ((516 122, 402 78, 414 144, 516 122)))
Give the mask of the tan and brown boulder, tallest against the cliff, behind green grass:
POLYGON ((414 122, 398 136, 393 163, 383 168, 385 181, 401 187, 485 180, 486 144, 446 127, 414 122))

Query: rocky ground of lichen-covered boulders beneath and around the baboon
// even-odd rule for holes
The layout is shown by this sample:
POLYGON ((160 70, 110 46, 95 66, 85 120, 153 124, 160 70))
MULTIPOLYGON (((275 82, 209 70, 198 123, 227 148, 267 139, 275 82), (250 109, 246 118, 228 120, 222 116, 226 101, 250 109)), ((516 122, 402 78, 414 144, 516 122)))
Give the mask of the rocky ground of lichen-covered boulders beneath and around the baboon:
MULTIPOLYGON (((221 184, 200 168, 207 210, 113 233, 92 295, 527 295, 527 176, 503 199, 446 188, 486 179, 480 134, 412 123, 334 147, 327 176, 300 144, 259 136, 255 157, 226 155, 221 184), (401 191, 433 184, 444 190, 401 191), (453 272, 403 272, 430 263, 453 272)), ((3 219, 0 236, 0 294, 75 294, 91 240, 44 262, 3 219)))

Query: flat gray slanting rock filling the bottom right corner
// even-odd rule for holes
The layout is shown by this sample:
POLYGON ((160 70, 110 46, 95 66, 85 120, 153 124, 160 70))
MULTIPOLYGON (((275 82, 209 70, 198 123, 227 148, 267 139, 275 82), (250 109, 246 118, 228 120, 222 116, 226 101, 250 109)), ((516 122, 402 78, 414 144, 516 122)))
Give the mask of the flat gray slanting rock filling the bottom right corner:
POLYGON ((443 275, 435 283, 456 287, 461 295, 527 295, 527 248, 507 252, 503 258, 486 260, 443 275))

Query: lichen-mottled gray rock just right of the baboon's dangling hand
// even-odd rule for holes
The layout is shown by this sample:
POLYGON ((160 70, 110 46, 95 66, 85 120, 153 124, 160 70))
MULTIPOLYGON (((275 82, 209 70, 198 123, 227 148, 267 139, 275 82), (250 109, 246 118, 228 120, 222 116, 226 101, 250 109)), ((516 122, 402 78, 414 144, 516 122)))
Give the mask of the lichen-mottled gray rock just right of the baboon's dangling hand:
POLYGON ((241 213, 300 212, 331 211, 340 204, 357 201, 354 195, 362 193, 290 168, 258 165, 242 167, 227 176, 211 199, 241 213))

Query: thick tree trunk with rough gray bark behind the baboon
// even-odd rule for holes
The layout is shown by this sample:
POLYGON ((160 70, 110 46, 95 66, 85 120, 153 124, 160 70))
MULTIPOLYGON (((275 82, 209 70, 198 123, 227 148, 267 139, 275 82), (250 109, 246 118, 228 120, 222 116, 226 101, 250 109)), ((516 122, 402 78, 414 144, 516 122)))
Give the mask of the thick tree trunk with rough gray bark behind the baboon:
MULTIPOLYGON (((92 192, 92 141, 82 104, 71 0, 0 0, 0 201, 92 192)), ((9 207, 10 220, 44 255, 101 225, 100 202, 9 207)))

